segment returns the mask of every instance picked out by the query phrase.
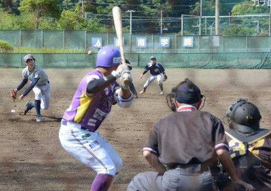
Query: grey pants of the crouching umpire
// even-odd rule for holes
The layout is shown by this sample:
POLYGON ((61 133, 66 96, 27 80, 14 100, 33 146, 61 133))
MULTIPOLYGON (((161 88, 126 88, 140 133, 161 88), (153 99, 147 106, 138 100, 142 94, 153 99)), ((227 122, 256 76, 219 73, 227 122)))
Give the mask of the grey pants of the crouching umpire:
POLYGON ((209 171, 201 174, 187 174, 180 169, 166 171, 163 175, 157 172, 137 174, 128 185, 128 191, 210 191, 213 190, 212 174, 209 171))

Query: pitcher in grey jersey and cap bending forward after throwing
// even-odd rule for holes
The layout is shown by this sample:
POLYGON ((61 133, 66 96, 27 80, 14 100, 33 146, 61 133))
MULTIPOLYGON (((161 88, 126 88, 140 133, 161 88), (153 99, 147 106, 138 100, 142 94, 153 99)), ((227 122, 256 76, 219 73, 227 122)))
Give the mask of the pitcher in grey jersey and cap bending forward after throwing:
POLYGON ((33 90, 35 94, 34 103, 30 101, 26 102, 24 115, 35 107, 37 113, 36 121, 41 122, 41 109, 47 110, 50 103, 50 81, 46 72, 40 66, 35 64, 35 58, 31 54, 27 54, 23 58, 23 62, 26 65, 22 70, 23 79, 16 89, 10 90, 10 95, 13 101, 15 101, 18 91, 27 84, 29 79, 31 81, 30 86, 18 97, 18 99, 22 100, 31 90, 33 90))

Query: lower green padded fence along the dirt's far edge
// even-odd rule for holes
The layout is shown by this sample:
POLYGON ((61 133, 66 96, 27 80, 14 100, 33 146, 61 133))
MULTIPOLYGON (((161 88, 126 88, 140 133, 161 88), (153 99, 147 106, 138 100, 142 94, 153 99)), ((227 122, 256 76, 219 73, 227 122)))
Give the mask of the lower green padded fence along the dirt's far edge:
MULTIPOLYGON (((165 68, 251 68, 270 69, 270 52, 246 53, 126 53, 133 68, 143 68, 150 56, 165 68)), ((25 53, 0 53, 0 67, 25 67, 25 53)), ((43 68, 95 68, 97 53, 33 53, 43 68)))

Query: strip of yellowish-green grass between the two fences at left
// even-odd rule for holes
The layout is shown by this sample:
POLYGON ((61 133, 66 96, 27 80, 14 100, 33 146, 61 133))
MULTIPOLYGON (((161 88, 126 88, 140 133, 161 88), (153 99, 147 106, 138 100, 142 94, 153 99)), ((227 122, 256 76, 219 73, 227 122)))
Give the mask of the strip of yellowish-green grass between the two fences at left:
POLYGON ((32 48, 32 47, 13 47, 12 52, 17 53, 86 53, 86 49, 55 49, 51 47, 32 48))

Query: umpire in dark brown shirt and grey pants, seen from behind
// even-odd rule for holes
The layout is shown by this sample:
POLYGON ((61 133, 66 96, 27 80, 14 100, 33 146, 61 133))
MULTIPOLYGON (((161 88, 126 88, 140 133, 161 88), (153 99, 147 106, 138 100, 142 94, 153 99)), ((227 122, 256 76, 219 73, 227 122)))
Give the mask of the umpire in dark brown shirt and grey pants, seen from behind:
POLYGON ((137 174, 127 190, 234 190, 231 180, 220 173, 218 161, 233 183, 253 190, 235 173, 222 122, 199 111, 203 98, 199 88, 186 78, 172 89, 171 97, 176 112, 153 127, 143 148, 157 172, 137 174))

